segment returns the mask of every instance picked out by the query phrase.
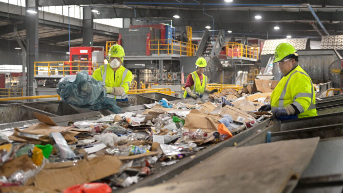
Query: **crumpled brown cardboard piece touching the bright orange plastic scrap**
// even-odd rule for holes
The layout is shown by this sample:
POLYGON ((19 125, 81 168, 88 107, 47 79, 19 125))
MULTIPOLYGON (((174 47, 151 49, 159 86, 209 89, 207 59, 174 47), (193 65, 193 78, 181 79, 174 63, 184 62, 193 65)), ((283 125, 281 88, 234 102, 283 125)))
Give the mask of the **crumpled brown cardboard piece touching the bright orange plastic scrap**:
POLYGON ((190 113, 186 116, 184 128, 195 131, 197 129, 202 129, 206 133, 211 133, 217 130, 219 125, 218 120, 220 119, 219 115, 210 115, 201 113, 195 109, 191 110, 190 113), (215 123, 216 127, 214 128, 211 122, 206 118, 210 118, 215 123))

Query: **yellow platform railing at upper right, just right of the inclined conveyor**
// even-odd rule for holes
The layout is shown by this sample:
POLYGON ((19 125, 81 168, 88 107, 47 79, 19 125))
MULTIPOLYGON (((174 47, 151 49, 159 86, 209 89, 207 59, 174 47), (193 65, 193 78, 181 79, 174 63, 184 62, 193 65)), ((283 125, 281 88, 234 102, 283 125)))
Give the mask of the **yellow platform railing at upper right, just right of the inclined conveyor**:
POLYGON ((226 43, 226 55, 237 58, 249 58, 258 60, 260 49, 237 42, 226 43))

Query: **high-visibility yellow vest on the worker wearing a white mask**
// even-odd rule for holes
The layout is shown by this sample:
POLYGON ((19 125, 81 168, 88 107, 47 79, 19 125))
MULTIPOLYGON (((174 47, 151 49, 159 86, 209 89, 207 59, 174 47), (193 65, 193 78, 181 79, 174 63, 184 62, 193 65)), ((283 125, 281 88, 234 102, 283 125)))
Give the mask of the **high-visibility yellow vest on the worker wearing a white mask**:
POLYGON ((114 98, 117 100, 126 99, 128 95, 126 94, 129 91, 130 84, 132 81, 132 73, 130 70, 124 66, 120 66, 115 71, 115 80, 114 80, 114 70, 109 64, 105 64, 97 68, 93 73, 93 78, 97 81, 103 81, 107 87, 119 87, 124 88, 124 93, 122 95, 113 95, 106 94, 109 98, 114 98))

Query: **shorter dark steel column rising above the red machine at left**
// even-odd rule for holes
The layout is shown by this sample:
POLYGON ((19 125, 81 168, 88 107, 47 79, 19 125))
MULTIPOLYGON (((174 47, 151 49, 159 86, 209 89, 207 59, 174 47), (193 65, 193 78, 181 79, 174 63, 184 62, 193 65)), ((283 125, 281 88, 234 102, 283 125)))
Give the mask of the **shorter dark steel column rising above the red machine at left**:
POLYGON ((87 7, 83 8, 82 36, 84 46, 93 45, 93 13, 87 7))

